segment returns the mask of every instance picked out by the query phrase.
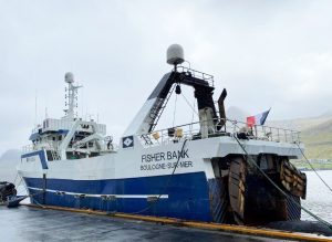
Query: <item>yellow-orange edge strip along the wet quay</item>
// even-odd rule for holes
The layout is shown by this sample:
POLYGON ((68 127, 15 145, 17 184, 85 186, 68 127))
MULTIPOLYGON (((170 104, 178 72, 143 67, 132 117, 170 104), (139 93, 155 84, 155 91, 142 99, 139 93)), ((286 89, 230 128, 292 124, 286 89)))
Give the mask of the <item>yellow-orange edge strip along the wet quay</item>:
POLYGON ((55 207, 55 206, 37 206, 37 204, 23 204, 23 206, 32 207, 32 208, 50 209, 50 210, 96 214, 96 215, 110 215, 110 217, 122 218, 122 219, 142 220, 142 221, 146 221, 146 222, 156 222, 156 223, 172 224, 172 225, 183 225, 183 227, 189 227, 189 228, 196 228, 196 229, 218 230, 218 231, 241 233, 241 234, 249 234, 249 235, 257 235, 257 236, 264 236, 264 238, 314 241, 314 242, 315 241, 319 241, 319 242, 332 241, 331 238, 319 236, 317 234, 295 233, 295 232, 290 232, 290 231, 272 230, 272 229, 264 229, 264 228, 184 221, 184 220, 178 220, 178 219, 138 215, 138 214, 128 214, 128 213, 108 213, 108 212, 96 211, 96 210, 91 210, 91 209, 73 209, 73 208, 63 208, 63 207, 55 207))

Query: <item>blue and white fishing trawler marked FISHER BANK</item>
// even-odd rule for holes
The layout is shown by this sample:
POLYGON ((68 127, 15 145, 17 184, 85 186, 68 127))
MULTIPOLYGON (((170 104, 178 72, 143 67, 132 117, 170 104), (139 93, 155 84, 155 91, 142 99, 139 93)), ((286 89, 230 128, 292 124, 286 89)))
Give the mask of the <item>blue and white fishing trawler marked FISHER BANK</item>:
POLYGON ((299 133, 227 118, 214 76, 167 50, 166 73, 118 145, 106 126, 75 115, 77 90, 65 74, 68 108, 45 118, 23 148, 19 175, 34 204, 237 224, 300 220, 305 175, 299 133), (194 87, 199 120, 155 130, 172 95, 194 87))

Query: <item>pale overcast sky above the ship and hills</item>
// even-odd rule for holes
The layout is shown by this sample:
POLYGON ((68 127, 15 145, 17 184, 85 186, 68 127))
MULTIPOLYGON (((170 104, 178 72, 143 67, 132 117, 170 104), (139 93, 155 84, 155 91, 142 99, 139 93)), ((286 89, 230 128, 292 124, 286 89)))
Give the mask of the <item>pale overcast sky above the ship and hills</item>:
MULTIPOLYGON (((0 0, 0 154, 29 143, 35 97, 39 123, 45 107, 63 115, 69 71, 84 85, 79 113, 120 136, 170 71, 173 43, 215 76, 216 99, 227 87, 228 107, 272 107, 270 119, 321 115, 332 109, 331 10, 329 0, 0 0)), ((176 123, 186 118, 191 112, 176 123)))

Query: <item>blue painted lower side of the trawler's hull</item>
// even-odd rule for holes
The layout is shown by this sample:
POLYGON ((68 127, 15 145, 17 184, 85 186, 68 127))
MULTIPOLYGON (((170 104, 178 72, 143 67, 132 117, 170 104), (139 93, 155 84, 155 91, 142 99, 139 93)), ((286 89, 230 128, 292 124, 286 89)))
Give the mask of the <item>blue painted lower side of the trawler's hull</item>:
POLYGON ((212 221, 209 182, 205 172, 110 180, 46 179, 46 182, 42 178, 24 178, 24 180, 30 194, 35 194, 31 199, 32 203, 212 221), (46 192, 40 192, 44 187, 46 192), (101 197, 89 194, 101 194, 101 197), (168 198, 152 202, 147 198, 117 198, 116 196, 114 199, 104 199, 103 194, 120 197, 168 194, 168 198))

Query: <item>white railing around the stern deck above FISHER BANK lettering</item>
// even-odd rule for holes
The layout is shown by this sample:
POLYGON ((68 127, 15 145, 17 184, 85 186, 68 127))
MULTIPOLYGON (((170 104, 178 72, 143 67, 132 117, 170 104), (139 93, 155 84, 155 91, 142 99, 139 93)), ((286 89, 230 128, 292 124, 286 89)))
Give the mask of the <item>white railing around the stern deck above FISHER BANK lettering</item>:
POLYGON ((248 124, 243 122, 220 118, 179 125, 139 135, 138 137, 143 146, 151 147, 162 144, 174 144, 184 139, 195 140, 219 136, 231 137, 235 135, 239 138, 262 141, 300 143, 300 131, 297 130, 263 125, 248 127, 248 124))

